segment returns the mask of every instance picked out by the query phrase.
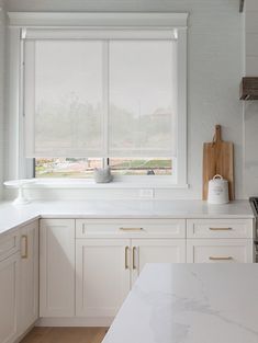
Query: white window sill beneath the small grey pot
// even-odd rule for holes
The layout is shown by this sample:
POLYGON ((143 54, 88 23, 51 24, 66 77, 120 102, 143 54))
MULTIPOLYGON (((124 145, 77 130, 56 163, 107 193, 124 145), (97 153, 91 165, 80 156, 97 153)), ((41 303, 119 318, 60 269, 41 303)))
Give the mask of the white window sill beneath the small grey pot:
MULTIPOLYGON (((18 188, 18 186, 7 186, 18 188)), ((150 182, 122 182, 112 181, 110 183, 96 183, 93 180, 43 180, 38 179, 35 183, 25 184, 23 188, 189 188, 189 184, 173 184, 169 181, 150 182)))

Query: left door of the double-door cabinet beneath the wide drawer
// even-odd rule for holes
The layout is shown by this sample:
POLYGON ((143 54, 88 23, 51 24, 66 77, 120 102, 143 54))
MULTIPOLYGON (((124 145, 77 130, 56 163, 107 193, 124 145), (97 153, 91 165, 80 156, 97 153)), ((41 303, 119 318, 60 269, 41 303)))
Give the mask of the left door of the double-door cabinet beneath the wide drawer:
POLYGON ((76 242, 76 315, 114 317, 130 290, 130 240, 76 242))

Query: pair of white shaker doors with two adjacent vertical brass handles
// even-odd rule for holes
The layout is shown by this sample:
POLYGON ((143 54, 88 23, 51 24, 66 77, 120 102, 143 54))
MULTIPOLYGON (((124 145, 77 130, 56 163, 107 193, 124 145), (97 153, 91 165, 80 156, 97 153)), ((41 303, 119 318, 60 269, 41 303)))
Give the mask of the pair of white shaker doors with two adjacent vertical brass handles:
POLYGON ((113 318, 152 262, 186 262, 186 240, 77 239, 76 316, 113 318))

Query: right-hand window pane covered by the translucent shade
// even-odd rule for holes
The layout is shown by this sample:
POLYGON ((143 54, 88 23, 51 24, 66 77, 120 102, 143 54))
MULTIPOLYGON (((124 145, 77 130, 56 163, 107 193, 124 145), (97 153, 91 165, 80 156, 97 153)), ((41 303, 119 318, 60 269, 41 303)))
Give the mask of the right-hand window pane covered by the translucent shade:
POLYGON ((111 156, 171 156, 175 52, 172 41, 110 43, 111 156))

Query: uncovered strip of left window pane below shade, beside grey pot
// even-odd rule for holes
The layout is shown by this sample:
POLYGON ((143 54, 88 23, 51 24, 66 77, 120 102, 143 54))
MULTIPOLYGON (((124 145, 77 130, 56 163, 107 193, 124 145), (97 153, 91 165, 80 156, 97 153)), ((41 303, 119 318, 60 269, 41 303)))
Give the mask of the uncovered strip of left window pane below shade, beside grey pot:
POLYGON ((35 178, 91 179, 102 159, 55 158, 35 159, 35 178))

